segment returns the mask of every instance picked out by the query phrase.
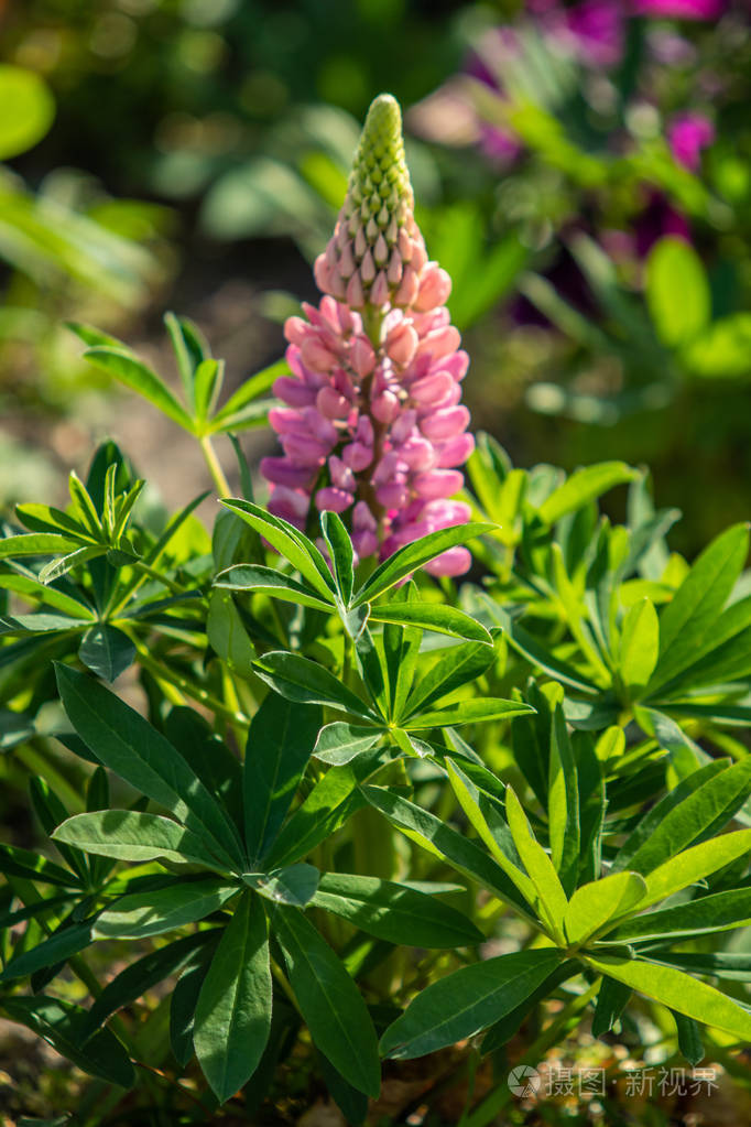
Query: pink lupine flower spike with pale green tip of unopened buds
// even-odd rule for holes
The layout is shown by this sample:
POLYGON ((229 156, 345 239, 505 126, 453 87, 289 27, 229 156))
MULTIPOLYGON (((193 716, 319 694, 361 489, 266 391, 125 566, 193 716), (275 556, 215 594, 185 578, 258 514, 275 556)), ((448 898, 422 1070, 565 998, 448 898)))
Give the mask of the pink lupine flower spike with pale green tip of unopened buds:
MULTIPOLYGON (((269 509, 304 529, 311 512, 339 513, 358 558, 462 524, 452 500, 472 453, 459 402, 468 357, 450 323, 450 278, 429 261, 414 222, 399 104, 370 106, 333 236, 315 261, 324 296, 285 326, 292 376, 270 423, 284 455, 266 458, 269 509)), ((431 564, 462 575, 465 548, 431 564)))

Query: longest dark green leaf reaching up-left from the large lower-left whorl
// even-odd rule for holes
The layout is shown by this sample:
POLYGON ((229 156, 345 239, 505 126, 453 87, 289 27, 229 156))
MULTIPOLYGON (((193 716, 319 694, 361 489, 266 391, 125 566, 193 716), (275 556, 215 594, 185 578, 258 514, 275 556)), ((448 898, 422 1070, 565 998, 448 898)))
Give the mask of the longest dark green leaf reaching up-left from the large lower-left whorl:
POLYGON ((69 719, 97 758, 235 864, 242 845, 234 825, 164 736, 86 674, 65 665, 56 673, 69 719))

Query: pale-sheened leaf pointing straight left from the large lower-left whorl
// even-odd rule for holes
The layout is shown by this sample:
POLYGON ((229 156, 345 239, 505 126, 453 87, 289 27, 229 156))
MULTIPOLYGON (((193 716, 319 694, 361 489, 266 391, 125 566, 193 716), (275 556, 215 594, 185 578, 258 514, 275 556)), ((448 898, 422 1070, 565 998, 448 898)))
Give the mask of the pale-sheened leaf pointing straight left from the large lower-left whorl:
POLYGON ((221 866, 203 842, 177 822, 138 810, 75 814, 57 826, 54 841, 120 861, 182 861, 211 869, 221 866))

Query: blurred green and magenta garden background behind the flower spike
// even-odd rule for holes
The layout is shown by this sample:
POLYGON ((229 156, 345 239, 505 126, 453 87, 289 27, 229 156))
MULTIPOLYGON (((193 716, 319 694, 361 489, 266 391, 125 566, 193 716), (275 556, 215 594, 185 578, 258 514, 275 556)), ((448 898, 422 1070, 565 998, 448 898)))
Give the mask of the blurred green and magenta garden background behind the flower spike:
POLYGON ((168 309, 233 383, 276 358, 382 90, 475 425, 647 463, 683 551, 748 516, 749 0, 0 0, 0 504, 108 433, 170 504, 204 487, 64 321, 170 380, 168 309))

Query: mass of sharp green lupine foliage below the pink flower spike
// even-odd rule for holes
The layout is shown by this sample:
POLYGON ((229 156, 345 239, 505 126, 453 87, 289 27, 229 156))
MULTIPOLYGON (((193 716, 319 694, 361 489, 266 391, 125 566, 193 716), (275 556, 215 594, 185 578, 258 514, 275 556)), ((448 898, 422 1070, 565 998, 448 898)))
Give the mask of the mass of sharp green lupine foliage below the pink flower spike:
MULTIPOLYGON (((216 362, 171 328, 206 452, 216 362)), ((382 1056, 502 1053, 553 997, 598 1036, 659 1003, 691 1064, 700 1026, 709 1053, 751 1039, 751 956, 722 949, 751 923, 748 529, 689 566, 643 473, 522 471, 481 436, 473 522, 368 571, 338 516, 313 541, 240 470, 211 538, 111 443, 66 511, 5 529, 0 735, 56 857, 0 849, 3 1014, 116 1089, 195 1056, 204 1117, 312 1045, 351 1122, 382 1056), (420 573, 465 542, 458 591, 420 573), (141 710, 99 680, 131 666, 141 710), (483 957, 498 935, 518 950, 483 957), (126 961, 104 986, 100 941, 126 961)))

